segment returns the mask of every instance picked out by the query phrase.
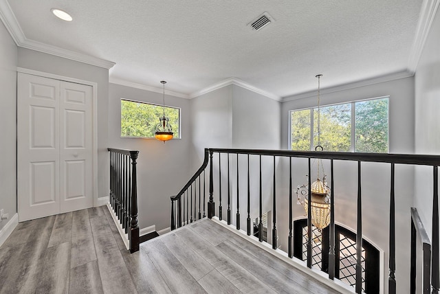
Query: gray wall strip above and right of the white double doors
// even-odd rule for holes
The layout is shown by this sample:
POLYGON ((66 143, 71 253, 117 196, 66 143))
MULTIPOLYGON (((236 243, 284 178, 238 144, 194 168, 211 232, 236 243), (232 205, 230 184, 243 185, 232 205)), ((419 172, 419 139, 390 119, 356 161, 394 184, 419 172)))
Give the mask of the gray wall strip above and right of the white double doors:
POLYGON ((19 47, 19 67, 98 83, 98 198, 109 195, 109 70, 19 47))

